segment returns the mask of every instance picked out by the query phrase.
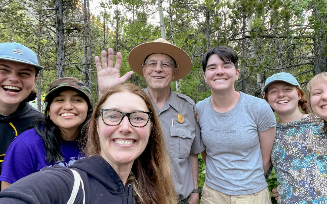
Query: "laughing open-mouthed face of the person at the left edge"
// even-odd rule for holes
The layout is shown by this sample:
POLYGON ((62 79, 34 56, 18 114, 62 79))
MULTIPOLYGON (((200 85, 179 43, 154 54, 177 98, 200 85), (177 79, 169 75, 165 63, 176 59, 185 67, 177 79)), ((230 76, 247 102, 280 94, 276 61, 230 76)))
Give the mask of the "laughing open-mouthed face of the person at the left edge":
POLYGON ((35 73, 32 65, 0 59, 0 106, 18 107, 31 93, 35 73))

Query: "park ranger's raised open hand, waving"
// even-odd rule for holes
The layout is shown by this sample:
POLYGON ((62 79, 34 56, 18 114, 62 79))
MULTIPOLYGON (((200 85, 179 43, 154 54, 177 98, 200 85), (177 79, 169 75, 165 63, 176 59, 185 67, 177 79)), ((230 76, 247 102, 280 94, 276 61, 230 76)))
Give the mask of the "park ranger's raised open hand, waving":
POLYGON ((120 67, 122 64, 122 55, 120 52, 116 53, 116 63, 113 66, 113 49, 108 48, 108 63, 107 63, 107 52, 105 50, 101 51, 101 64, 100 58, 95 56, 95 66, 98 75, 98 85, 99 85, 99 99, 102 94, 109 88, 115 85, 124 84, 131 75, 133 71, 129 71, 120 77, 120 67))

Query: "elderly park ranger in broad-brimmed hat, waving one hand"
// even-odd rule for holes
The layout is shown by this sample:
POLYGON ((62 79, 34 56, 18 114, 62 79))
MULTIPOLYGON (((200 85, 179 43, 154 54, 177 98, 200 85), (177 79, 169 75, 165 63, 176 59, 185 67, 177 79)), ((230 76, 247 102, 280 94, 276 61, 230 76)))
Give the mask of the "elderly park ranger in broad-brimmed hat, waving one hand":
POLYGON ((198 203, 198 153, 205 147, 200 140, 195 103, 189 97, 171 90, 170 83, 186 76, 192 68, 190 57, 181 48, 165 39, 156 39, 138 45, 129 53, 129 65, 133 71, 120 77, 121 54, 116 54, 113 66, 113 50, 108 49, 95 57, 98 71, 99 96, 106 87, 124 83, 133 71, 145 77, 150 97, 160 118, 166 146, 171 157, 172 177, 180 203, 198 203))

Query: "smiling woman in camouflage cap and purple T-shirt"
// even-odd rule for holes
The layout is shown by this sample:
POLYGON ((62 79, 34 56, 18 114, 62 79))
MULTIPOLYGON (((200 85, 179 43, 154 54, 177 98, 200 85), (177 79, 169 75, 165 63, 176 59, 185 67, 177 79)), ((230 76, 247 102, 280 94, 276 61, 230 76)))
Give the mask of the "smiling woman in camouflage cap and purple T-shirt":
POLYGON ((91 92, 87 84, 65 77, 51 83, 44 101, 44 121, 18 135, 10 144, 2 164, 2 190, 44 166, 72 165, 85 157, 79 142, 82 126, 92 112, 91 92))

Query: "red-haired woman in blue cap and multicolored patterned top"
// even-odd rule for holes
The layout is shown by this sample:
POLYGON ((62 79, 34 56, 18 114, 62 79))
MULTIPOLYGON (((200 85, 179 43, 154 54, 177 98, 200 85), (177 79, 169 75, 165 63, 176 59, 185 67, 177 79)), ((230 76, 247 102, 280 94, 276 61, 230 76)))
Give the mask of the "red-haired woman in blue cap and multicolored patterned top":
POLYGON ((263 91, 279 118, 271 154, 278 203, 327 202, 326 136, 322 124, 305 114, 307 102, 300 84, 290 73, 280 72, 266 80, 263 91))

